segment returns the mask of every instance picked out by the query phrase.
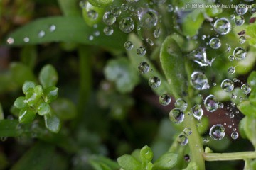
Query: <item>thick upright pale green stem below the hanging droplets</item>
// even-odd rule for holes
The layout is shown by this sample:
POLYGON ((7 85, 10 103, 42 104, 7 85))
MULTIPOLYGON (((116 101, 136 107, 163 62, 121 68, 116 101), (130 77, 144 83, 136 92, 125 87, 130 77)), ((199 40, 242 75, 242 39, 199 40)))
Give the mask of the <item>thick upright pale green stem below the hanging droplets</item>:
POLYGON ((188 136, 188 145, 191 151, 191 161, 196 162, 198 169, 205 169, 205 162, 203 159, 203 144, 201 135, 199 135, 196 128, 195 118, 191 118, 188 113, 185 114, 184 119, 185 128, 191 128, 191 135, 188 136))

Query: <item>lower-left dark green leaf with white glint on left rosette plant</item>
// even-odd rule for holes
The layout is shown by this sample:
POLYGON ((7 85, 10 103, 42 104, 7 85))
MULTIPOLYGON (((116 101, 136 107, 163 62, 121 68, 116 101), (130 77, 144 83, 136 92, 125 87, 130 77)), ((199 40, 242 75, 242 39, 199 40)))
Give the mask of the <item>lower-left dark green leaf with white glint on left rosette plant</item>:
POLYGON ((19 113, 18 121, 19 123, 31 123, 35 116, 36 111, 32 108, 22 108, 19 113))

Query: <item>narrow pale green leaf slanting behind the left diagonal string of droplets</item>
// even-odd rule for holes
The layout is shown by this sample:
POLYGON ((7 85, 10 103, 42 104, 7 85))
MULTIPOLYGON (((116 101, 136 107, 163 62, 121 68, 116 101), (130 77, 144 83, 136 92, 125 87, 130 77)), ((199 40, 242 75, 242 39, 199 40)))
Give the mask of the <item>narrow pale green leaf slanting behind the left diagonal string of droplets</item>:
POLYGON ((164 77, 161 76, 161 74, 156 69, 156 67, 154 67, 154 64, 152 62, 150 62, 150 60, 147 57, 141 57, 141 56, 137 55, 137 48, 142 46, 142 40, 137 38, 136 35, 130 34, 129 41, 131 41, 134 44, 134 48, 127 52, 129 60, 132 62, 132 65, 134 67, 134 70, 137 70, 137 72, 139 74, 139 71, 138 71, 139 63, 147 62, 149 64, 150 69, 153 70, 153 72, 148 72, 146 74, 142 74, 142 77, 144 77, 147 80, 149 80, 149 78, 152 76, 159 77, 159 79, 161 79, 161 85, 158 88, 154 88, 152 90, 158 95, 170 93, 171 89, 169 88, 169 84, 166 82, 164 77))

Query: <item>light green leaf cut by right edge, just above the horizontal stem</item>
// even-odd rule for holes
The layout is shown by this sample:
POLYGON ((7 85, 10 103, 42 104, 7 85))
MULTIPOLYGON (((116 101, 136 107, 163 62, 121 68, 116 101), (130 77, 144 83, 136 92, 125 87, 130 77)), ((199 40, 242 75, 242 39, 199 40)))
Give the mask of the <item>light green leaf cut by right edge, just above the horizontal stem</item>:
POLYGON ((244 131, 245 135, 247 138, 252 142, 252 145, 256 149, 256 134, 255 134, 255 129, 256 129, 256 119, 252 118, 250 116, 245 116, 245 126, 244 126, 244 131))

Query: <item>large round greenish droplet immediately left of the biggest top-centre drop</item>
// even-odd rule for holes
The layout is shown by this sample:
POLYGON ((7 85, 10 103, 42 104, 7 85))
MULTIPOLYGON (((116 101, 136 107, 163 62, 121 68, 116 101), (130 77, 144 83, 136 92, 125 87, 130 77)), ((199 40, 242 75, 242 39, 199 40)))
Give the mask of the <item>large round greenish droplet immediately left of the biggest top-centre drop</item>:
POLYGON ((152 28, 153 26, 156 26, 156 23, 158 21, 156 11, 151 9, 141 11, 138 14, 138 18, 139 26, 143 26, 145 28, 152 28))

